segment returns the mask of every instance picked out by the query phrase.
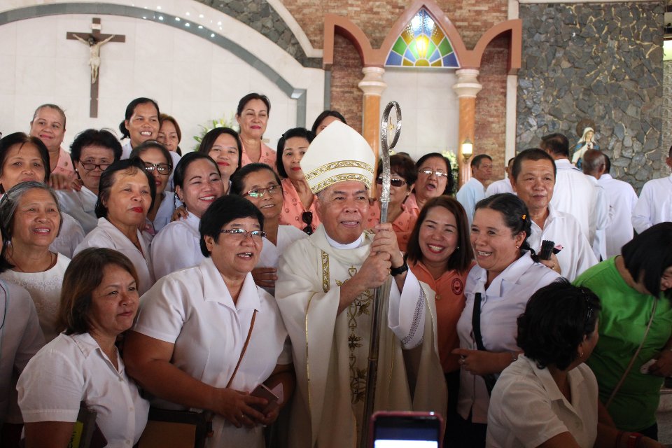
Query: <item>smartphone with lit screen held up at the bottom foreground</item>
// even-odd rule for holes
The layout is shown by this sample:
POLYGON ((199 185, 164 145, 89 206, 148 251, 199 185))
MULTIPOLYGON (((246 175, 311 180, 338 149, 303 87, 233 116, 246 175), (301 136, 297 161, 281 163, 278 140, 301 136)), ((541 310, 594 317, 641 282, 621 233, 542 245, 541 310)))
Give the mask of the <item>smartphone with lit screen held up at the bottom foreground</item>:
POLYGON ((370 448, 440 448, 443 419, 434 412, 376 412, 370 448))

